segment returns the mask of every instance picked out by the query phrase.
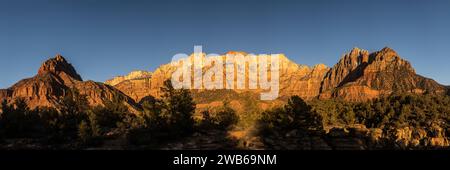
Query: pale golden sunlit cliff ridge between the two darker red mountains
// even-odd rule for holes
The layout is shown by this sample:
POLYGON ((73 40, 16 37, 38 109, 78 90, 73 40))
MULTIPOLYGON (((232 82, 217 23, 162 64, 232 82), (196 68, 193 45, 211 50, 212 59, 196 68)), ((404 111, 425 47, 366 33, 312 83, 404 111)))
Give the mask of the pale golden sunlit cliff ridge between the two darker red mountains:
MULTIPOLYGON (((243 54, 246 55, 245 52, 235 52, 230 51, 226 54, 243 54)), ((225 54, 225 55, 226 55, 225 54)), ((225 57, 225 55, 220 57, 225 57)), ((193 54, 190 56, 192 60, 193 54)), ((205 54, 202 54, 202 60, 205 60, 205 54)), ((205 62, 204 62, 205 63, 205 62)), ((224 65, 225 66, 225 65, 224 65)), ((172 66, 171 64, 162 65, 158 69, 156 69, 151 76, 135 76, 133 78, 130 75, 134 74, 133 72, 127 76, 118 76, 111 80, 106 81, 106 84, 112 85, 120 91, 124 92, 135 101, 140 101, 142 98, 146 96, 156 96, 160 95, 160 88, 163 85, 163 82, 167 79, 170 79, 172 73, 175 72, 177 67, 172 66)), ((202 69, 203 74, 210 69, 210 66, 205 66, 202 69)), ((248 63, 246 65, 246 70, 248 70, 248 63)), ((317 97, 320 92, 320 87, 322 83, 322 79, 325 74, 328 72, 329 68, 324 64, 318 64, 314 67, 308 67, 305 65, 298 65, 291 60, 289 60, 283 54, 280 54, 280 96, 290 96, 290 95, 299 95, 303 98, 312 99, 317 97), (301 88, 299 88, 301 87, 301 88)), ((223 77, 226 76, 225 70, 223 77)), ((246 84, 249 80, 248 71, 246 72, 245 81, 246 84)), ((234 83, 236 84, 237 79, 234 79, 234 83)), ((224 81, 225 87, 225 81, 224 81)), ((261 92, 261 89, 249 89, 248 85, 245 86, 244 89, 235 90, 236 92, 261 92)))

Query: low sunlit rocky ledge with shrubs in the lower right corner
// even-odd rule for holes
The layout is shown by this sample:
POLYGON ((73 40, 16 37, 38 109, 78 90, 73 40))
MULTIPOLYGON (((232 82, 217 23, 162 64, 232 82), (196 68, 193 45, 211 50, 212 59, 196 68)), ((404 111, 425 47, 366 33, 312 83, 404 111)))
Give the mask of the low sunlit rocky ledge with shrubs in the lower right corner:
POLYGON ((361 124, 328 127, 327 143, 336 150, 446 148, 450 141, 438 126, 366 128, 361 124))

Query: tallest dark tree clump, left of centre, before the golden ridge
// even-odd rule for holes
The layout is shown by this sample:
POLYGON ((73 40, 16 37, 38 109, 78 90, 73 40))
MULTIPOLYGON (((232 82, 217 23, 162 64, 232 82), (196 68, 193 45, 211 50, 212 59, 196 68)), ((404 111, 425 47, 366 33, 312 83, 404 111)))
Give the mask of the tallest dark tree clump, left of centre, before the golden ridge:
POLYGON ((127 132, 130 143, 157 144, 193 132, 195 103, 189 90, 174 89, 166 80, 161 92, 161 99, 141 100, 142 115, 126 119, 132 124, 127 132))

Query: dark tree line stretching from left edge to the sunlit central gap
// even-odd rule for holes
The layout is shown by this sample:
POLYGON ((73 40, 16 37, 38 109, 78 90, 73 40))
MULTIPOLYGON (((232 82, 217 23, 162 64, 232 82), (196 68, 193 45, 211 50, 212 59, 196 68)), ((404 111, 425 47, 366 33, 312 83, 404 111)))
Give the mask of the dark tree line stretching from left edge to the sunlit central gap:
POLYGON ((198 129, 226 130, 238 117, 224 106, 217 112, 203 111, 195 120, 195 106, 189 90, 174 89, 165 81, 158 99, 148 96, 139 102, 140 113, 132 114, 119 100, 89 107, 86 96, 71 91, 58 109, 30 109, 25 100, 2 101, 0 143, 2 139, 33 138, 57 146, 75 143, 75 148, 96 146, 113 133, 126 137, 130 145, 157 146, 182 138, 198 129), (75 142, 74 142, 75 141, 75 142))

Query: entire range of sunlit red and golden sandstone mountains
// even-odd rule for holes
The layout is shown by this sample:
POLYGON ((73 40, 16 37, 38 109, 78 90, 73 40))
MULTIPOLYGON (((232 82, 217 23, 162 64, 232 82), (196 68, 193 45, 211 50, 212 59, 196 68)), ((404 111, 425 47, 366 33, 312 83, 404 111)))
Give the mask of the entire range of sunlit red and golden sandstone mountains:
MULTIPOLYGON (((229 52, 227 54, 245 55, 246 53, 229 52)), ((192 60, 192 58, 193 55, 189 59, 192 60)), ((202 60, 205 60, 204 54, 202 54, 202 60)), ((211 67, 205 65, 202 68, 202 74, 211 67)), ((64 57, 56 55, 41 65, 36 76, 21 80, 8 89, 0 89, 0 100, 12 102, 17 98, 23 98, 31 108, 58 107, 61 104, 61 98, 75 89, 80 94, 86 95, 92 106, 104 105, 105 102, 119 99, 130 109, 134 109, 134 101, 140 101, 149 95, 160 96, 163 82, 170 79, 176 70, 176 66, 166 64, 153 73, 135 71, 102 84, 83 81, 64 57)), ((246 70, 248 70, 248 63, 246 70)), ((299 65, 280 55, 279 73, 280 98, 298 95, 307 100, 342 98, 347 101, 366 101, 392 93, 449 93, 448 87, 417 75, 411 64, 390 48, 373 53, 354 48, 332 68, 323 64, 313 67, 299 65)), ((248 71, 245 80, 247 84, 248 71)), ((234 84, 236 81, 235 78, 234 84)), ((244 89, 232 91, 235 94, 259 94, 262 89, 249 89, 246 85, 244 89)), ((211 94, 209 96, 215 96, 211 94)), ((206 93, 202 93, 199 96, 205 95, 206 93)), ((209 99, 210 102, 223 101, 221 95, 209 99)))

